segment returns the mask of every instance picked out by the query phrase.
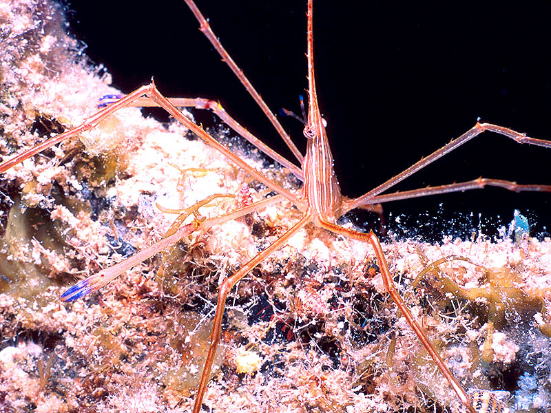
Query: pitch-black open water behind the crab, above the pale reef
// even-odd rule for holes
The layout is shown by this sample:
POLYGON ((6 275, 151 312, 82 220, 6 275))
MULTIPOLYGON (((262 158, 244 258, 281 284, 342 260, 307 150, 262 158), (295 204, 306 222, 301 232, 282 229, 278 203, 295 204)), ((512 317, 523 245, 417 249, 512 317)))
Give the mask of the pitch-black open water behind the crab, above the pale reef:
MULTIPOLYGON (((306 1, 200 1, 211 27, 268 105, 300 112, 306 88, 306 1)), ((344 2, 342 2, 344 3, 344 2)), ((315 3, 315 70, 342 192, 361 195, 464 133, 477 118, 551 140, 551 3, 315 3)), ((72 1, 70 26, 124 92, 149 82, 167 96, 222 105, 269 145, 282 141, 198 31, 183 1, 72 1)), ((207 122, 210 115, 204 116, 207 122)), ((282 123, 304 147, 302 126, 282 123)), ((484 134, 397 186, 479 176, 551 184, 551 151, 484 134)), ((534 233, 551 226, 550 193, 484 189, 384 206, 387 220, 432 237, 495 235, 527 215, 534 233), (453 221, 455 220, 455 221, 453 221), (453 229, 457 226, 457 229, 453 229), (425 229, 424 229, 425 228, 425 229), (453 231, 452 231, 453 229, 453 231)), ((360 215, 359 223, 371 217, 360 215)), ((401 230, 400 230, 401 231, 401 230)))

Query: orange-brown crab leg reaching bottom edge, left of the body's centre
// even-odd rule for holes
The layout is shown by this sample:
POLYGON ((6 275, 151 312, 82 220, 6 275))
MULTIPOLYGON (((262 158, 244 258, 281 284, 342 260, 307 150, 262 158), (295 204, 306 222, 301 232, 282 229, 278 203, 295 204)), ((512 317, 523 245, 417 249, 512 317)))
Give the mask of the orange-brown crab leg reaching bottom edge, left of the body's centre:
POLYGON ((226 305, 226 299, 229 291, 233 286, 235 286, 240 279, 245 277, 249 271, 256 267, 260 262, 265 260, 271 253, 278 250, 283 246, 290 237, 292 237, 298 230, 300 230, 304 225, 308 224, 312 220, 311 213, 306 213, 301 218, 299 222, 291 226, 286 233, 273 242, 266 249, 260 251, 256 257, 251 261, 247 262, 244 266, 240 268, 235 274, 231 275, 222 282, 220 285, 220 290, 218 290, 218 304, 216 304, 216 314, 214 315, 214 321, 212 326, 211 333, 211 343, 209 346, 209 354, 207 355, 207 360, 205 361, 205 368, 203 368, 201 381, 199 383, 199 388, 197 389, 197 394, 195 396, 194 410, 193 413, 199 413, 201 410, 202 399, 205 395, 205 390, 207 388, 207 382, 209 381, 209 376, 211 374, 212 363, 214 361, 214 355, 216 354, 216 348, 218 348, 218 343, 220 342, 220 332, 222 330, 222 317, 224 315, 224 308, 226 305))

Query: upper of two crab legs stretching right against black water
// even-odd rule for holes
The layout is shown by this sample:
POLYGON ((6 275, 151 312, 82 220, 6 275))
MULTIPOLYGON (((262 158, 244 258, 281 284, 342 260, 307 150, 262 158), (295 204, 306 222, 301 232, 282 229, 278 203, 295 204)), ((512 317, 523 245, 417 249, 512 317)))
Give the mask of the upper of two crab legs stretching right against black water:
POLYGON ((373 198, 376 195, 379 195, 383 191, 386 191, 388 188, 393 187, 398 182, 401 182, 402 180, 408 178, 408 176, 413 175, 413 173, 419 171, 420 169, 423 169, 424 167, 434 162, 438 158, 441 158, 442 156, 446 155, 446 153, 449 153, 450 151, 453 151, 457 147, 460 147, 465 142, 468 142, 472 138, 475 138, 475 136, 478 136, 484 131, 492 131, 497 134, 507 136, 508 138, 511 138, 512 140, 515 140, 519 143, 527 143, 528 145, 537 145, 537 146, 542 146, 546 148, 551 148, 551 140, 530 138, 525 134, 521 134, 507 127, 492 125, 491 123, 477 123, 474 127, 466 131, 466 133, 459 136, 459 138, 452 140, 450 143, 448 143, 448 145, 441 147, 437 151, 434 151, 426 158, 422 158, 422 160, 415 162, 415 164, 411 165, 405 171, 398 173, 397 176, 394 176, 393 178, 380 184, 378 187, 375 187, 371 191, 364 193, 364 195, 358 198, 355 198, 353 200, 347 201, 344 205, 344 210, 350 211, 351 209, 354 209, 362 204, 371 204, 373 202, 378 202, 378 201, 373 201, 373 198))

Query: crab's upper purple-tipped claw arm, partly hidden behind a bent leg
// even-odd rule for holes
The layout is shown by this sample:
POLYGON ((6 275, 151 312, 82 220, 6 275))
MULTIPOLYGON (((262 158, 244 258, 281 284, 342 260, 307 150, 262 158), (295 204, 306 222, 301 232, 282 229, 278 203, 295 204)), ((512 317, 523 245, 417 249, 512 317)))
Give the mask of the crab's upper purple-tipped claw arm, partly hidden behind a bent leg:
MULTIPOLYGON (((123 96, 124 95, 104 96, 104 98, 102 98, 101 105, 111 105, 123 96)), ((298 179, 303 180, 302 169, 294 165, 293 162, 287 160, 287 158, 284 158, 279 153, 271 149, 271 147, 262 142, 262 140, 251 134, 251 132, 249 132, 245 127, 238 123, 237 120, 229 116, 224 107, 222 107, 222 105, 220 105, 220 103, 216 102, 215 100, 205 98, 167 98, 167 100, 176 107, 194 107, 195 109, 211 110, 212 112, 214 112, 214 114, 216 114, 216 116, 218 116, 218 118, 220 118, 220 120, 222 120, 222 122, 231 127, 231 129, 233 129, 234 131, 236 131, 239 136, 242 136, 242 138, 245 138, 246 140, 251 142, 252 145, 257 147, 267 156, 289 169, 291 173, 293 173, 293 175, 296 176, 298 179)), ((134 102, 132 102, 132 106, 158 107, 157 103, 149 98, 138 98, 134 100, 134 102)))

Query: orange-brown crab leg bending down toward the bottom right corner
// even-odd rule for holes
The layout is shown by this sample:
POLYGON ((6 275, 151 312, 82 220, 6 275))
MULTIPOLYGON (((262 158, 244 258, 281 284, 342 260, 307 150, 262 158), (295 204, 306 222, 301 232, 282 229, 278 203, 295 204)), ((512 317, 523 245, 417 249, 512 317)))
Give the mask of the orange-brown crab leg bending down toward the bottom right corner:
POLYGON ((386 258, 384 257, 381 244, 373 231, 369 233, 361 233, 358 231, 353 231, 351 229, 342 228, 342 226, 331 224, 331 222, 326 222, 323 220, 318 220, 318 223, 320 224, 320 226, 322 226, 322 228, 325 228, 333 233, 344 235, 345 237, 352 238, 353 240, 367 242, 368 244, 371 244, 371 246, 373 246, 373 248, 375 249, 375 255, 377 256, 377 262, 379 263, 384 288, 386 288, 388 294, 391 295, 393 301, 396 303, 396 306, 402 312, 402 315, 406 317, 408 324, 413 329, 413 331, 415 331, 415 334, 417 335, 417 337, 419 337, 419 341, 421 341, 424 348, 426 348, 428 354, 430 354, 430 357, 434 360, 436 366, 439 368, 442 374, 444 374, 444 377, 446 377, 448 383, 450 383, 450 386, 459 397, 459 400, 461 400, 461 403, 463 403, 463 405, 465 405, 470 412, 476 413, 468 399, 464 388, 459 384, 457 379, 453 377, 452 372, 450 372, 448 366, 446 366, 446 363, 444 363, 444 360, 441 359, 438 352, 430 343, 430 340, 428 339, 428 337, 426 337, 422 328, 419 327, 419 324, 417 324, 417 321, 415 321, 415 318, 413 318, 413 315, 404 303, 404 300, 402 299, 402 297, 400 297, 399 293, 394 287, 393 279, 390 271, 388 271, 388 264, 386 264, 386 258))

